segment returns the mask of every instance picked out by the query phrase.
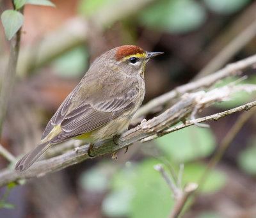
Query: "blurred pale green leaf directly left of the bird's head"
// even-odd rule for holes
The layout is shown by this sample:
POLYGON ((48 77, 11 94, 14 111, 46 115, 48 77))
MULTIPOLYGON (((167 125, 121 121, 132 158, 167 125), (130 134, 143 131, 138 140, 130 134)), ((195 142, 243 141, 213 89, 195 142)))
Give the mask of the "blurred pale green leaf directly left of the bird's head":
POLYGON ((88 65, 89 54, 84 46, 65 52, 52 62, 54 73, 61 77, 82 77, 88 65))

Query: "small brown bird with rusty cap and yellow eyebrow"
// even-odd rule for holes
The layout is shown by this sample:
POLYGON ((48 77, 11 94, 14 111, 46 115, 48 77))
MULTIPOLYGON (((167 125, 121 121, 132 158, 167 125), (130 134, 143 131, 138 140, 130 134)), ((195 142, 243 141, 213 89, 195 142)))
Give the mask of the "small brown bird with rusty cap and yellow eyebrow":
POLYGON ((52 144, 67 139, 81 139, 90 143, 91 149, 97 141, 122 134, 143 101, 145 65, 159 54, 163 52, 123 45, 95 59, 52 116, 40 144, 22 157, 15 169, 28 169, 52 144))

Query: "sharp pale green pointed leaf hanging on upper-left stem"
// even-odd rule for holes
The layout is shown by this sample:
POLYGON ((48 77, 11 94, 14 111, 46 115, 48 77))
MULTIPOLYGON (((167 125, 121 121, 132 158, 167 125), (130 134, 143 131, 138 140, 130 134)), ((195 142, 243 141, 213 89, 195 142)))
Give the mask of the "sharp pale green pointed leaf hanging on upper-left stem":
POLYGON ((6 10, 2 13, 1 20, 4 26, 5 35, 8 40, 11 40, 13 35, 15 35, 22 26, 24 17, 20 12, 6 10))

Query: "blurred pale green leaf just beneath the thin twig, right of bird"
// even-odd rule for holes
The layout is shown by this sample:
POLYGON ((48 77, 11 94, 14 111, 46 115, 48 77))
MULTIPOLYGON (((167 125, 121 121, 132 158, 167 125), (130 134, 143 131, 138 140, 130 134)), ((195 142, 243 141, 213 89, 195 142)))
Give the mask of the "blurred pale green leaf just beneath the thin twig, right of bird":
POLYGON ((164 155, 178 163, 207 157, 215 148, 215 138, 208 128, 183 128, 155 140, 164 155))

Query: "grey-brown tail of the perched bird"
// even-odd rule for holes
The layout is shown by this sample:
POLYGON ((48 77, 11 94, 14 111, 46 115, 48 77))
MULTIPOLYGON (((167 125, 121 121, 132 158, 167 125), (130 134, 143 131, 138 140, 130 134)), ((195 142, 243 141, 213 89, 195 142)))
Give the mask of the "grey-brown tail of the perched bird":
POLYGON ((50 146, 49 142, 38 144, 31 152, 27 153, 17 162, 15 169, 19 169, 19 171, 28 169, 50 146))

